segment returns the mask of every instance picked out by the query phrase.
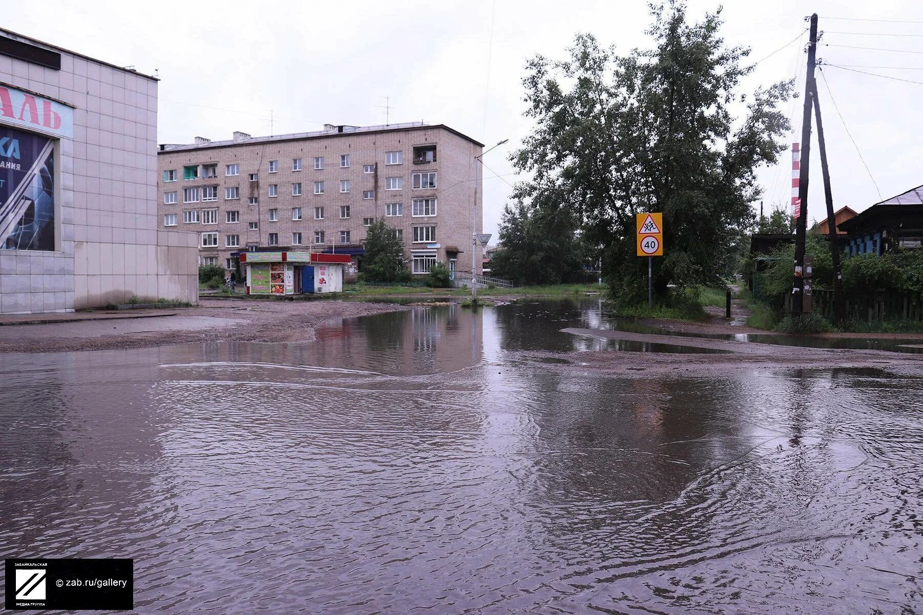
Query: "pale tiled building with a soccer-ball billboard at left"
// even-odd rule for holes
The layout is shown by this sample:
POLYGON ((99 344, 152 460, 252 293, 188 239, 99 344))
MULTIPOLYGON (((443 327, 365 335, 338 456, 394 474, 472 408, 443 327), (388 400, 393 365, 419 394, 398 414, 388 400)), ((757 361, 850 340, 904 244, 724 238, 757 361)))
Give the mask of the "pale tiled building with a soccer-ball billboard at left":
POLYGON ((156 78, 0 29, 0 313, 198 301, 156 139, 156 78))

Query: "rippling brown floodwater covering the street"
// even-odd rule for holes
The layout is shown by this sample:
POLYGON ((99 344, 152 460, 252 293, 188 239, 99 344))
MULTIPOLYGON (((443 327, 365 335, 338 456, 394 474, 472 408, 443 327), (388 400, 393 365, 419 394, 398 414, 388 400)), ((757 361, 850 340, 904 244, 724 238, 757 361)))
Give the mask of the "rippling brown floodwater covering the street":
POLYGON ((0 548, 134 558, 142 613, 923 612, 923 380, 613 377, 683 347, 600 307, 0 356, 0 548))

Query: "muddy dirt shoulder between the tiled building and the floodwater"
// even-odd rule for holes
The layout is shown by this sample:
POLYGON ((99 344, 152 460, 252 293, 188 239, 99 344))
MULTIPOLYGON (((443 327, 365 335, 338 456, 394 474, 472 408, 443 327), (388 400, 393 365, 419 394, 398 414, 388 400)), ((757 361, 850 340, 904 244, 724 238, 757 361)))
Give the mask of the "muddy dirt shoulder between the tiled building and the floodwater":
MULTIPOLYGON (((203 298, 196 308, 101 320, 0 327, 0 353, 141 348, 198 342, 307 342, 329 320, 412 309, 360 301, 254 301, 203 298)), ((115 316, 115 315, 114 315, 115 316)))

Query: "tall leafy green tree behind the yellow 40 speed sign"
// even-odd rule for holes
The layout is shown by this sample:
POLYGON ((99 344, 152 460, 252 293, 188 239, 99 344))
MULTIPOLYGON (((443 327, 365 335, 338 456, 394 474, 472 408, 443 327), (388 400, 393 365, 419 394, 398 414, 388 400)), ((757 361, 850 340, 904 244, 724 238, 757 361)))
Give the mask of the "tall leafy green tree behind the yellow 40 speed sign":
POLYGON ((523 84, 535 127, 512 159, 532 177, 514 198, 538 208, 557 195, 587 242, 604 248, 606 280, 624 300, 646 294, 637 212, 664 213, 658 295, 726 272, 754 222, 754 170, 785 150, 776 139, 789 127, 777 106, 791 82, 737 92, 752 69, 749 50, 725 44, 720 9, 696 23, 679 2, 652 10, 651 49, 618 55, 580 34, 568 59, 529 61, 523 84))

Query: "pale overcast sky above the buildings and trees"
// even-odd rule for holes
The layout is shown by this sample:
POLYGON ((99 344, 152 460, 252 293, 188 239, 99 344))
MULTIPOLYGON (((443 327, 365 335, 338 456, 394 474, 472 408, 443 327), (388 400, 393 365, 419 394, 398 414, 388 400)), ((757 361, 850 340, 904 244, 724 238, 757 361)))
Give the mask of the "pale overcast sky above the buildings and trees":
MULTIPOLYGON (((229 139, 234 130, 267 135, 270 110, 274 134, 317 130, 324 123, 384 124, 386 97, 392 123, 444 123, 488 147, 509 139, 484 159, 485 232, 496 238, 508 182, 516 181, 509 152, 530 130, 522 116, 526 59, 534 54, 563 57, 578 31, 591 32, 621 52, 646 46, 646 6, 641 0, 43 0, 5 3, 3 21, 10 30, 81 54, 148 74, 157 71, 162 79, 160 142, 190 142, 197 135, 229 139)), ((689 17, 701 17, 716 6, 692 0, 689 17)), ((725 40, 749 45, 750 58, 759 60, 796 39, 811 10, 821 16, 820 29, 826 31, 822 42, 829 46, 821 46, 818 54, 826 62, 923 82, 920 2, 728 0, 725 40), (845 31, 861 34, 840 33, 845 31)), ((745 89, 795 77, 800 66, 798 89, 803 90, 806 40, 807 32, 800 43, 762 61, 745 89)), ((923 134, 923 114, 917 111, 923 84, 833 66, 823 72, 833 92, 831 100, 819 77, 834 207, 862 210, 923 184, 923 148, 917 146, 923 134)), ((802 100, 786 105, 797 135, 802 100)), ((790 168, 785 154, 777 166, 761 170, 767 211, 773 204, 788 206, 790 168)), ((811 171, 809 218, 821 219, 826 214, 819 161, 811 171)))

